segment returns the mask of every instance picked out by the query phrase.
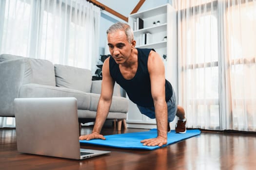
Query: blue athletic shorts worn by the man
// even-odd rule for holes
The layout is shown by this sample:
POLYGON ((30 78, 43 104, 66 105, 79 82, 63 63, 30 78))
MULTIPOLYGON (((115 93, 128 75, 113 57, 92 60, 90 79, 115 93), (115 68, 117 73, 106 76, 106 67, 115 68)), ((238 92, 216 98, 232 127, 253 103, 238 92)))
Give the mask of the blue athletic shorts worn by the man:
MULTIPOLYGON (((140 111, 140 113, 142 113, 143 115, 146 115, 147 117, 151 118, 151 119, 155 119, 156 118, 156 114, 155 114, 155 107, 142 107, 142 106, 138 106, 138 109, 140 111)), ((167 102, 167 110, 168 110, 168 122, 171 122, 174 120, 175 116, 176 116, 176 112, 177 112, 177 99, 176 99, 176 95, 175 95, 175 91, 173 89, 173 95, 171 97, 171 99, 167 102)))

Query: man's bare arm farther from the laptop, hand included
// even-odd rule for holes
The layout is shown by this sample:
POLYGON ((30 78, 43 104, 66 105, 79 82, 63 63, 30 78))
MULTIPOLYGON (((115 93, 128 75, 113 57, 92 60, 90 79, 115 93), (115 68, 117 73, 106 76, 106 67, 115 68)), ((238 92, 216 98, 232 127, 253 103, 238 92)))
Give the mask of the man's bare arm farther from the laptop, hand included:
POLYGON ((155 105, 158 136, 142 140, 147 146, 162 146, 167 144, 167 104, 165 101, 165 70, 160 55, 151 51, 148 58, 148 71, 151 81, 151 93, 155 105))

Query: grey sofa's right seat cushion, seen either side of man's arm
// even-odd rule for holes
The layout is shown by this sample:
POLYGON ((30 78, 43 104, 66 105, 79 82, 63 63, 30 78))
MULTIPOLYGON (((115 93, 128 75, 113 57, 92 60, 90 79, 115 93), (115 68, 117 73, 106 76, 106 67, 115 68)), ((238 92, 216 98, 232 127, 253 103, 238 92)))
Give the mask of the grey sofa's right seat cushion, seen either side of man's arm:
MULTIPOLYGON (((98 107, 98 100, 100 95, 90 93, 91 95, 91 103, 90 103, 90 109, 91 111, 97 111, 98 107)), ((121 113, 127 113, 128 112, 128 105, 129 100, 124 97, 118 97, 113 96, 112 97, 112 103, 109 109, 109 112, 121 112, 121 113)))

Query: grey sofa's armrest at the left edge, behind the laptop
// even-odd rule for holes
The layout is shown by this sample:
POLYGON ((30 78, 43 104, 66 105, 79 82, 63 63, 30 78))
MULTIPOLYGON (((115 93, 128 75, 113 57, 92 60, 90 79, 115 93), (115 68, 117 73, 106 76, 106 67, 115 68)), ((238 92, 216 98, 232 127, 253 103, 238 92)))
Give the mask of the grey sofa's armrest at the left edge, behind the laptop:
POLYGON ((22 59, 0 62, 0 116, 14 117, 13 100, 19 97, 23 83, 22 59))

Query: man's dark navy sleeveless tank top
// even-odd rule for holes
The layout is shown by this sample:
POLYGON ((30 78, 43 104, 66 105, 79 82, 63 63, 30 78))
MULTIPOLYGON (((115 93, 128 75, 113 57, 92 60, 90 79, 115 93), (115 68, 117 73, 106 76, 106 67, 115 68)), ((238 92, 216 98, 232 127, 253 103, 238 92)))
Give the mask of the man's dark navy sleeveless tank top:
MULTIPOLYGON (((111 77, 126 91, 129 99, 143 107, 154 106, 153 98, 151 95, 151 84, 148 72, 148 56, 151 50, 154 49, 139 49, 138 50, 138 68, 135 76, 126 80, 123 78, 119 65, 110 57, 109 71, 111 77)), ((165 80, 165 100, 166 102, 171 99, 173 95, 172 85, 165 80)))

